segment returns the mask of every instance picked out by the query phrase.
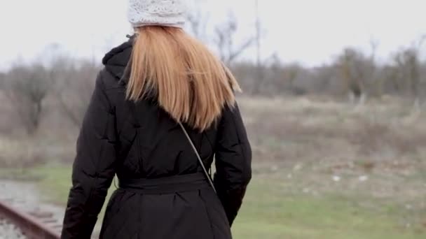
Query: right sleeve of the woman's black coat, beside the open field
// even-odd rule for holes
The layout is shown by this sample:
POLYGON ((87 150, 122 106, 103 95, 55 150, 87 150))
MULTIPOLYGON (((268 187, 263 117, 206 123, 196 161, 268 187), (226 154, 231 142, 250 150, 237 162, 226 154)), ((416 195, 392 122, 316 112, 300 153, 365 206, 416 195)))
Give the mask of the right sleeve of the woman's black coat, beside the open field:
POLYGON ((218 127, 214 184, 232 225, 252 178, 252 149, 238 105, 225 108, 218 127))

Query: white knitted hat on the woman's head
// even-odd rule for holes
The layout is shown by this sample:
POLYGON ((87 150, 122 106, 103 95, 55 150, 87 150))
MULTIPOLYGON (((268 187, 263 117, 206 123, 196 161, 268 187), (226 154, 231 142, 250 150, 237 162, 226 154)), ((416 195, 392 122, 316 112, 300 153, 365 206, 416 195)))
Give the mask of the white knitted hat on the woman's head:
POLYGON ((128 19, 132 27, 158 25, 183 28, 185 14, 184 0, 129 0, 128 19))

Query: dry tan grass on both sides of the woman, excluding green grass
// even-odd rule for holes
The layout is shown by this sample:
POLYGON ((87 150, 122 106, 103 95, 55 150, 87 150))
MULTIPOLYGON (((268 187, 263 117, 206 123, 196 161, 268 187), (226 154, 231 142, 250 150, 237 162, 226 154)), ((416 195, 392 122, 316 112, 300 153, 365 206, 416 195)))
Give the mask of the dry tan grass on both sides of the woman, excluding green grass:
MULTIPOLYGON (((11 104, 0 105, 0 166, 72 161, 78 129, 54 99, 47 102, 41 128, 31 137, 22 131, 11 104)), ((330 178, 340 175, 352 179, 339 183, 343 191, 361 187, 367 194, 426 195, 426 187, 418 184, 426 175, 426 116, 413 112, 409 103, 387 98, 353 106, 319 97, 239 102, 254 162, 287 168, 293 176, 293 168, 302 167, 300 187, 335 190, 330 178), (371 184, 358 183, 362 175, 369 175, 371 184)))

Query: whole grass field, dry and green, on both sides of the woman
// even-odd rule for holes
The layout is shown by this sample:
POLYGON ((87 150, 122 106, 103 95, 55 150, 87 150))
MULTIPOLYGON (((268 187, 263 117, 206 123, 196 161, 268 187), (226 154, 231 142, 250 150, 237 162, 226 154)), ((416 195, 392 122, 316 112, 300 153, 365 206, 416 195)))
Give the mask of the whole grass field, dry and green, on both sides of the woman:
MULTIPOLYGON (((236 239, 426 238, 424 111, 386 97, 358 106, 314 96, 239 102, 254 178, 236 239)), ((35 180, 64 205, 77 130, 51 117, 33 138, 0 135, 0 177, 35 180)))

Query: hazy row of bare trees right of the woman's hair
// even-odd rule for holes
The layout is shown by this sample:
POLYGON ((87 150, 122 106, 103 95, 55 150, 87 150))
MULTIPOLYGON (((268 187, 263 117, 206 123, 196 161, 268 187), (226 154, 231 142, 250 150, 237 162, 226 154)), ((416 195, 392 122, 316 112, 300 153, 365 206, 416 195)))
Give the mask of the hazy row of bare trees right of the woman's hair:
POLYGON ((426 96, 426 62, 420 57, 420 45, 397 50, 384 63, 378 62, 374 50, 366 54, 345 48, 331 64, 312 68, 297 62, 282 64, 278 57, 260 68, 251 62, 234 62, 231 67, 252 94, 327 94, 349 96, 359 103, 395 95, 418 104, 426 96), (256 71, 261 71, 261 78, 256 71))

